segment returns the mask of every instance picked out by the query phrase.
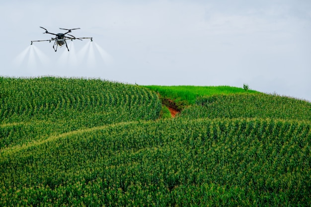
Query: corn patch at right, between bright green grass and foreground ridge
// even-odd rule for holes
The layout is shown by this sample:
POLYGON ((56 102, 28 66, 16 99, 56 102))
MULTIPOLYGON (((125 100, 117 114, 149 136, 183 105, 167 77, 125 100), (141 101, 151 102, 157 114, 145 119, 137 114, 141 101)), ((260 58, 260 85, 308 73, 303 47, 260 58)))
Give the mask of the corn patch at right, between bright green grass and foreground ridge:
POLYGON ((182 111, 188 118, 278 118, 311 121, 311 103, 267 94, 232 94, 198 97, 182 111))

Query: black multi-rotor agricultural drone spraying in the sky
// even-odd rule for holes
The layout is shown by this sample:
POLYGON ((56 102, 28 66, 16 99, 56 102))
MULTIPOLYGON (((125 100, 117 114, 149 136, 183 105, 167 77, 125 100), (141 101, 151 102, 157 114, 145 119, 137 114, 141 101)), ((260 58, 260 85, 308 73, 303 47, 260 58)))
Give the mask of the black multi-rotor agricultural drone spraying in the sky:
MULTIPOLYGON (((62 47, 62 46, 64 46, 64 45, 66 45, 66 47, 67 47, 67 49, 68 49, 68 45, 67 45, 66 40, 69 40, 69 39, 70 39, 71 41, 73 41, 74 39, 78 39, 78 40, 90 39, 91 41, 93 41, 93 38, 92 38, 92 37, 79 37, 79 38, 76 38, 75 36, 73 36, 73 35, 71 35, 71 34, 68 34, 68 33, 71 32, 71 30, 74 30, 74 29, 64 29, 64 28, 60 28, 60 29, 68 30, 68 32, 54 34, 54 33, 48 32, 48 30, 47 30, 46 28, 43 28, 42 26, 40 26, 40 28, 42 28, 42 29, 45 30, 45 32, 43 32, 43 34, 44 34, 44 33, 53 34, 53 35, 56 35, 56 37, 54 37, 54 38, 52 37, 52 38, 49 39, 49 40, 33 40, 33 41, 31 41, 31 44, 30 44, 30 45, 32 45, 33 42, 42 42, 42 41, 49 41, 49 42, 51 42, 51 41, 55 40, 54 45, 53 45, 53 49, 55 50, 55 52, 57 51, 57 47, 58 47, 58 46, 62 47), (70 37, 65 36, 65 35, 69 35, 70 37), (54 47, 55 45, 56 45, 56 49, 55 49, 55 47, 54 47)), ((75 28, 75 29, 80 29, 80 28, 75 28)), ((68 51, 69 51, 69 49, 68 49, 68 51)))

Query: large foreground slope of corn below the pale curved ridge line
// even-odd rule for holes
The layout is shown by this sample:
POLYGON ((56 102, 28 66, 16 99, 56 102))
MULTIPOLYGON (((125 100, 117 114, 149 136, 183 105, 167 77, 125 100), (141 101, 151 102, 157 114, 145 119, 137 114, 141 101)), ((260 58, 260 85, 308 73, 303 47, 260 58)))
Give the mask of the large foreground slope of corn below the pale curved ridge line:
POLYGON ((0 205, 311 204, 311 123, 166 119, 0 155, 0 205))

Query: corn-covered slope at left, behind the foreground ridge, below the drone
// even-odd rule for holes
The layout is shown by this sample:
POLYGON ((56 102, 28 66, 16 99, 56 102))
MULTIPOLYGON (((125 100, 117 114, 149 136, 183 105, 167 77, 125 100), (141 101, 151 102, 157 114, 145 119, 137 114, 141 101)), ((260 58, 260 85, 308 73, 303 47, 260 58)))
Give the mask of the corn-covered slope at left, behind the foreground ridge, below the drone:
POLYGON ((156 94, 102 80, 0 78, 0 149, 105 124, 158 118, 156 94))

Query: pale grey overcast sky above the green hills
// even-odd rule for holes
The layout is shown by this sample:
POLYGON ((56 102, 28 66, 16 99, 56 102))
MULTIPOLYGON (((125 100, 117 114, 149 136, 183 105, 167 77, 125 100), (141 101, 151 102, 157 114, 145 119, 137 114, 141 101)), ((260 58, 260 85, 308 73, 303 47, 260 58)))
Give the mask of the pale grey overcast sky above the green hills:
POLYGON ((7 0, 0 75, 235 86, 311 101, 311 0, 7 0), (93 42, 34 42, 66 32, 93 42))

